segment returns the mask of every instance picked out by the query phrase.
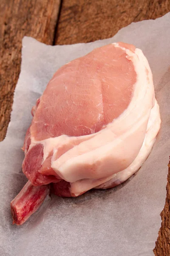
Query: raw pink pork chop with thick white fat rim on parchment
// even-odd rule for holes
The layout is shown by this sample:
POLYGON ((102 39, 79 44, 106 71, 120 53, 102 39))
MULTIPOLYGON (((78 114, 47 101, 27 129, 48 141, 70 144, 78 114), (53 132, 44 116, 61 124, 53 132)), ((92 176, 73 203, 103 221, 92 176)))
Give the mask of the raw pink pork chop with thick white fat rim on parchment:
MULTIPOLYGON (((67 197, 127 180, 148 157, 161 122, 147 59, 124 43, 57 70, 31 113, 23 172, 32 185, 51 183, 51 192, 67 197)), ((22 224, 30 212, 22 219, 25 203, 14 200, 14 222, 22 224)))

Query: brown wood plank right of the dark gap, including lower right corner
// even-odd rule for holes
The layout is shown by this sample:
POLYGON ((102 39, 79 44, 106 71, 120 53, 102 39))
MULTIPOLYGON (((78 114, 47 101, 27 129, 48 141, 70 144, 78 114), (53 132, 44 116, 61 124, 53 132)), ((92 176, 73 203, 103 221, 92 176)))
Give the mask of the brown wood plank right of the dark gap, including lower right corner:
MULTIPOLYGON (((169 11, 170 0, 63 0, 55 44, 109 38, 131 22, 156 19, 169 11)), ((154 254, 170 256, 170 168, 161 219, 154 254)))

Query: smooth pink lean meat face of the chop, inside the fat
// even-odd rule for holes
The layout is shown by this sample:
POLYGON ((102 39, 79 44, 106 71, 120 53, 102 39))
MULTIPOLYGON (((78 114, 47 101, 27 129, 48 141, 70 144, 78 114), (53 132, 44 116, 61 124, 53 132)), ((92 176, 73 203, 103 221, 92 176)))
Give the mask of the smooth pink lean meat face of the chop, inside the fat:
POLYGON ((133 63, 112 44, 71 61, 47 85, 35 111, 31 136, 45 140, 100 131, 127 108, 135 82, 133 63))

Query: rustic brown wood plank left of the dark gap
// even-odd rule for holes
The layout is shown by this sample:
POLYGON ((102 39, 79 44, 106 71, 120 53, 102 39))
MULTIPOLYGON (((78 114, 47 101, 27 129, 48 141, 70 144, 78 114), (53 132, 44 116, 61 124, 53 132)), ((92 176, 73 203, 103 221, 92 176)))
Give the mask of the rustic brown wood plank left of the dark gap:
POLYGON ((60 0, 1 0, 0 140, 6 135, 14 88, 20 73, 21 41, 32 36, 53 44, 60 0))

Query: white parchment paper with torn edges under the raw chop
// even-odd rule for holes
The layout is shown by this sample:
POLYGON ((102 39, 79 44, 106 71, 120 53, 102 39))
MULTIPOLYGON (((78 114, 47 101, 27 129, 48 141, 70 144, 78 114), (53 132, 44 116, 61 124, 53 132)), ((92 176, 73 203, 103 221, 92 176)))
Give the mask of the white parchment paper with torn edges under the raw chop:
POLYGON ((158 236, 170 154, 170 13, 132 23, 113 38, 88 44, 47 46, 23 38, 21 73, 11 122, 0 143, 0 255, 151 256, 158 236), (123 41, 147 57, 161 111, 161 131, 137 175, 123 186, 78 198, 49 197, 21 227, 12 225, 10 201, 26 183, 21 151, 31 107, 53 73, 95 47, 123 41))

